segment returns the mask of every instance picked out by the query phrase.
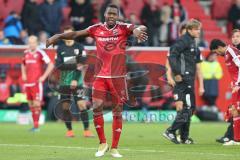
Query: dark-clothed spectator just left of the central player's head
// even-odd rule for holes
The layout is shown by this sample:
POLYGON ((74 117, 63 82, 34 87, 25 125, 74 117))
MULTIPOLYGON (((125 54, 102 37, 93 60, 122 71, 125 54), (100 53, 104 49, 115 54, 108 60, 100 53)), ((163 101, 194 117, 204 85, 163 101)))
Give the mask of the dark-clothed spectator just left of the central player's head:
POLYGON ((74 30, 82 30, 92 25, 94 10, 89 0, 71 1, 70 7, 70 19, 74 30))

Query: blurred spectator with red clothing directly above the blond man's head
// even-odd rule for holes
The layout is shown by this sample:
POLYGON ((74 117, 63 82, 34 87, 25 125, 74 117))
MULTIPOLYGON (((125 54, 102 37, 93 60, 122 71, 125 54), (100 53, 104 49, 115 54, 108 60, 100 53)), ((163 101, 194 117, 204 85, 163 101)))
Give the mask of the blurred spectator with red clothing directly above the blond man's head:
POLYGON ((175 16, 180 17, 180 22, 184 22, 188 19, 187 12, 184 9, 184 7, 181 4, 181 0, 174 0, 172 8, 172 19, 174 19, 175 16))

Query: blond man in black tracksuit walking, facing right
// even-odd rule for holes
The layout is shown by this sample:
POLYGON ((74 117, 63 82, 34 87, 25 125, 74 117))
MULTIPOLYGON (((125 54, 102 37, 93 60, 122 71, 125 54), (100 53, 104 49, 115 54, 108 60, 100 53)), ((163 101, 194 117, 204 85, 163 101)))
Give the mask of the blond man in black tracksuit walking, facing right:
POLYGON ((175 144, 180 143, 176 138, 177 130, 181 131, 181 143, 193 144, 193 140, 189 138, 189 130, 192 112, 196 107, 194 93, 196 74, 199 80, 199 94, 204 93, 200 69, 201 53, 195 42, 195 38, 200 36, 201 23, 191 19, 186 24, 186 30, 187 32, 171 46, 168 57, 175 81, 173 93, 177 116, 163 136, 175 144))

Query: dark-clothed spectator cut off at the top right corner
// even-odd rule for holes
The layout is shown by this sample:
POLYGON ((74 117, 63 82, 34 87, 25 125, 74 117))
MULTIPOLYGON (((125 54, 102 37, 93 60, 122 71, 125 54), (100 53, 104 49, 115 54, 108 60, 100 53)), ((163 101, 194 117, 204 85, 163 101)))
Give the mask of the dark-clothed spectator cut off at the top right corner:
POLYGON ((233 29, 240 29, 240 0, 236 0, 230 8, 228 20, 233 24, 233 29))

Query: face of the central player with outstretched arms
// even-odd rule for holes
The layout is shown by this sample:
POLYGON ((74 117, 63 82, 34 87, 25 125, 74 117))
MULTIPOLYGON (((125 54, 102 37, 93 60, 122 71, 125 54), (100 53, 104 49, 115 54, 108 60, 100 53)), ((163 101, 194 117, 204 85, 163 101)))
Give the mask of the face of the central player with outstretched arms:
POLYGON ((116 21, 118 20, 118 9, 108 7, 105 11, 105 21, 107 22, 108 27, 112 28, 115 26, 116 21))

